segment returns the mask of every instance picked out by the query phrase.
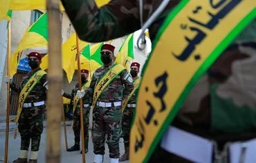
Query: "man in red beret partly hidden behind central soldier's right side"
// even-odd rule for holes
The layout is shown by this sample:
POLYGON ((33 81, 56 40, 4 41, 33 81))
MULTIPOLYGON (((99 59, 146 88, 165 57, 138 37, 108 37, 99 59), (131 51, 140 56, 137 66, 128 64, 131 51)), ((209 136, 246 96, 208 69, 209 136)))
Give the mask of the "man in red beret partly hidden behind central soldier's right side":
POLYGON ((138 86, 140 85, 140 78, 138 73, 140 72, 139 63, 131 63, 131 77, 134 80, 134 90, 131 94, 122 101, 122 138, 125 144, 125 154, 120 157, 120 162, 129 160, 129 138, 131 131, 131 122, 134 117, 134 109, 136 108, 136 97, 138 94, 138 86))

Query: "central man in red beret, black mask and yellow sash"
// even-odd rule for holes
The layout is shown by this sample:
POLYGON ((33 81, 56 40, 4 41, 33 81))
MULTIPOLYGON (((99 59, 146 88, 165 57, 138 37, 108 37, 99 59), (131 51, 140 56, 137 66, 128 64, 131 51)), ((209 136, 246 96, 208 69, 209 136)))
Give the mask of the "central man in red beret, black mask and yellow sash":
POLYGON ((77 91, 93 97, 93 147, 94 162, 102 163, 107 135, 111 163, 119 160, 119 139, 122 134, 122 100, 134 89, 132 78, 122 65, 113 62, 115 47, 104 44, 101 47, 101 61, 104 65, 95 70, 89 89, 77 91))

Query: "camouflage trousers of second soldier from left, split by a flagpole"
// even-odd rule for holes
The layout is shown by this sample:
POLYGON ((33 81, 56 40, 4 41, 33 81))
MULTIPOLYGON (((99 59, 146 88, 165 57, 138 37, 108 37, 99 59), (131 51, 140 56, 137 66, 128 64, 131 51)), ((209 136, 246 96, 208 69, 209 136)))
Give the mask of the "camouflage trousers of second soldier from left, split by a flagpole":
MULTIPOLYGON (((91 107, 84 107, 84 109, 83 109, 84 149, 88 149, 90 108, 91 107)), ((73 131, 74 131, 74 135, 75 135, 75 144, 80 145, 80 133, 81 133, 80 107, 77 107, 75 109, 73 120, 74 120, 73 131)))

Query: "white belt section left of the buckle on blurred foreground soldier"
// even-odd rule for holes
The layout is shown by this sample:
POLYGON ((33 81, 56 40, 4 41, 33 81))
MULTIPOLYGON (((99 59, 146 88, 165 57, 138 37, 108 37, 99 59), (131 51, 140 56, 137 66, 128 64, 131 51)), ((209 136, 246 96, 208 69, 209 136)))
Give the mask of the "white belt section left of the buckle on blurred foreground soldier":
POLYGON ((176 127, 169 127, 161 147, 170 153, 198 163, 211 163, 214 143, 176 127))

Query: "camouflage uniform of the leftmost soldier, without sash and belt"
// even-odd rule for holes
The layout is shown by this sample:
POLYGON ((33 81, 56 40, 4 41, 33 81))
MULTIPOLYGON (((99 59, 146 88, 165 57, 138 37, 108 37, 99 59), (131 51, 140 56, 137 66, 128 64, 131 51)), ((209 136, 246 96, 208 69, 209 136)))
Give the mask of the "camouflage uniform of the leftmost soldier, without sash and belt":
MULTIPOLYGON (((16 87, 14 83, 10 85, 12 90, 20 93, 21 89, 25 86, 26 82, 33 76, 35 72, 30 72, 24 77, 19 87, 16 87)), ((33 103, 46 100, 46 75, 44 75, 39 83, 30 91, 24 103, 33 103)), ((44 129, 44 109, 45 105, 38 107, 23 107, 21 115, 19 117, 18 129, 21 135, 21 150, 28 151, 28 147, 31 140, 31 151, 39 151, 39 145, 41 140, 41 134, 44 129)))

